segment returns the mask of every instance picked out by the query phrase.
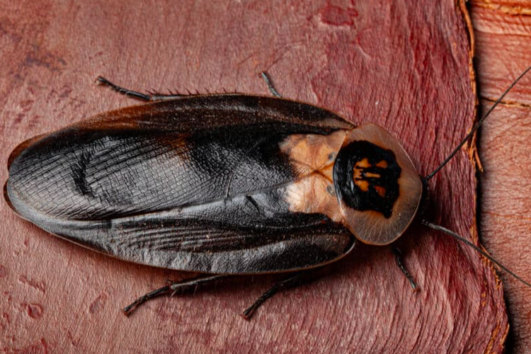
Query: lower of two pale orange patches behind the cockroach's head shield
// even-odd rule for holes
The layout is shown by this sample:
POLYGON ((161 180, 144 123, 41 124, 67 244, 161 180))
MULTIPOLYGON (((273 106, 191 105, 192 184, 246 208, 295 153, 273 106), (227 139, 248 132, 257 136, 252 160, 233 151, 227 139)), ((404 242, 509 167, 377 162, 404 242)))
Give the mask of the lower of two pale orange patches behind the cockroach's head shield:
POLYGON ((333 222, 341 222, 341 208, 333 183, 320 173, 313 173, 287 187, 286 201, 290 212, 319 213, 333 222))

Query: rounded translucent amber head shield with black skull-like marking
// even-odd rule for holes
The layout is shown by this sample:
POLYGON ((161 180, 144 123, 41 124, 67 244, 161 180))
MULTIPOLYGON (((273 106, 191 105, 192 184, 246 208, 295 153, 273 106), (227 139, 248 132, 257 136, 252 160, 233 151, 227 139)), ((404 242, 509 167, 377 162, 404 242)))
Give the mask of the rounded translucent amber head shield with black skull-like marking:
POLYGON ((422 181, 408 154, 373 124, 350 131, 334 164, 333 183, 343 219, 365 244, 392 243, 421 202, 422 181))

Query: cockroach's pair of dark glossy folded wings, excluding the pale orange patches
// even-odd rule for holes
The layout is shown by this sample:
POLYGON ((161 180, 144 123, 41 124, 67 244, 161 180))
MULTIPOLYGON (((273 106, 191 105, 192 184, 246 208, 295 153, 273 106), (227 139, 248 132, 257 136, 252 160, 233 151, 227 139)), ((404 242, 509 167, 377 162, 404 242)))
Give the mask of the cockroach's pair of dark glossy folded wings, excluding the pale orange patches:
POLYGON ((42 229, 113 256, 207 273, 309 268, 353 237, 290 211, 280 143, 352 127, 326 110, 256 96, 199 96, 103 113, 26 144, 6 195, 42 229))

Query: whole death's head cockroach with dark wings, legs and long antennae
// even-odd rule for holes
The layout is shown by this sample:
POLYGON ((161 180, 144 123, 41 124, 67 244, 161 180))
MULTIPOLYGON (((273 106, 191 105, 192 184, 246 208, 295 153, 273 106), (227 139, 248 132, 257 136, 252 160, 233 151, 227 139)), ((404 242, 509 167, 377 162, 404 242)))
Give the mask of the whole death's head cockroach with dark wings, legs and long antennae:
MULTIPOLYGON (((356 241, 399 238, 418 214, 428 180, 484 120, 421 177, 381 127, 357 127, 281 98, 263 78, 276 97, 144 95, 100 77, 151 102, 23 142, 8 159, 5 198, 24 219, 89 249, 206 273, 140 297, 126 314, 162 293, 229 275, 292 272, 246 309, 249 318, 302 271, 337 261, 356 241)), ((454 232, 422 222, 500 265, 454 232)))

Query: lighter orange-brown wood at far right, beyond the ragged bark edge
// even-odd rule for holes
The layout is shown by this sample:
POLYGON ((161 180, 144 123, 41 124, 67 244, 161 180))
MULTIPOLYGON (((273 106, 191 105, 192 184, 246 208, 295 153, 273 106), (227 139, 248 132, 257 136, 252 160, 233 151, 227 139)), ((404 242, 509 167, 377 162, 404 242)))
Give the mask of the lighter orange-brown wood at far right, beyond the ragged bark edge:
MULTIPOLYGON (((484 109, 531 65, 531 1, 473 1, 476 70, 484 109)), ((486 249, 531 280, 531 77, 481 130, 480 230, 486 249)), ((531 353, 531 290, 501 274, 511 331, 508 353, 531 353)))

